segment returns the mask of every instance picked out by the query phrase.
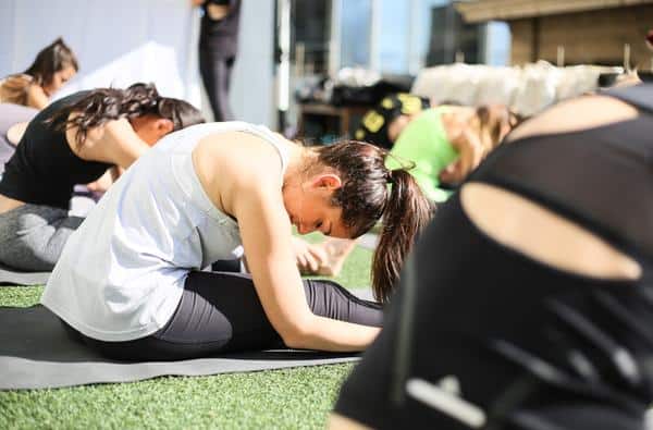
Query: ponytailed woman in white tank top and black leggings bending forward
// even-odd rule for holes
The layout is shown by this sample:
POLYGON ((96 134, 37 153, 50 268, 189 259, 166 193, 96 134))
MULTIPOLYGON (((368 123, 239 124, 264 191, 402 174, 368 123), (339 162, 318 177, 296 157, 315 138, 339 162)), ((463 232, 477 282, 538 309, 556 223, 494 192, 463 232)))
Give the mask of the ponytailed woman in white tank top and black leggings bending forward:
POLYGON ((243 122, 173 133, 73 233, 41 303, 118 359, 364 349, 380 305, 330 282, 303 285, 291 232, 357 237, 383 217, 372 282, 385 299, 430 218, 410 174, 387 170, 385 155, 356 142, 303 147, 243 122), (251 279, 199 271, 241 246, 251 279))

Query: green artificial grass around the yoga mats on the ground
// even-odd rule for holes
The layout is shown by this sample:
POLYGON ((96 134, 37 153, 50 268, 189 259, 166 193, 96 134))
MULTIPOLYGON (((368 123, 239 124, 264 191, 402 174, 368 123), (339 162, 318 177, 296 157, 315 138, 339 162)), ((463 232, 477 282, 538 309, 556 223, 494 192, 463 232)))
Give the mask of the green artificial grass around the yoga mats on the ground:
MULTIPOLYGON (((313 235, 308 239, 320 238, 313 235)), ((369 285, 370 259, 369 250, 357 247, 334 280, 347 287, 369 285)), ((0 306, 32 306, 38 303, 41 292, 41 286, 0 286, 0 306)), ((346 364, 0 391, 0 429, 324 428, 352 367, 346 364)))

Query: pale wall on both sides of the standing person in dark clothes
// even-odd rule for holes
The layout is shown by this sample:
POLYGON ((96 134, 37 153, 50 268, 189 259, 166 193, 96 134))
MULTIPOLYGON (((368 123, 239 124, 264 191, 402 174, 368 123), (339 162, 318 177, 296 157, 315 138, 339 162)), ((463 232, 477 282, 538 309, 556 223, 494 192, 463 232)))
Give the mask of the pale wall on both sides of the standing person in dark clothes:
MULTIPOLYGON (((271 0, 244 0, 232 84, 236 118, 273 126, 271 0)), ((62 36, 79 73, 57 97, 79 89, 153 82, 169 97, 202 106, 198 10, 188 0, 0 0, 0 77, 25 70, 62 36)))

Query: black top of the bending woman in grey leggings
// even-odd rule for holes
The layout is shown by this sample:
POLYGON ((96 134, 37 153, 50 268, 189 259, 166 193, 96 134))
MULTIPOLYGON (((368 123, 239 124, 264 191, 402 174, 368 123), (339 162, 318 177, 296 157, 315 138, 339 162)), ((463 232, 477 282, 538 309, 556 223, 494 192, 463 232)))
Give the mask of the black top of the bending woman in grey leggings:
POLYGON ((59 109, 87 94, 79 91, 57 100, 29 122, 16 151, 4 167, 0 194, 67 210, 75 184, 96 181, 111 167, 81 159, 71 150, 65 132, 56 130, 57 123, 46 123, 59 109))

